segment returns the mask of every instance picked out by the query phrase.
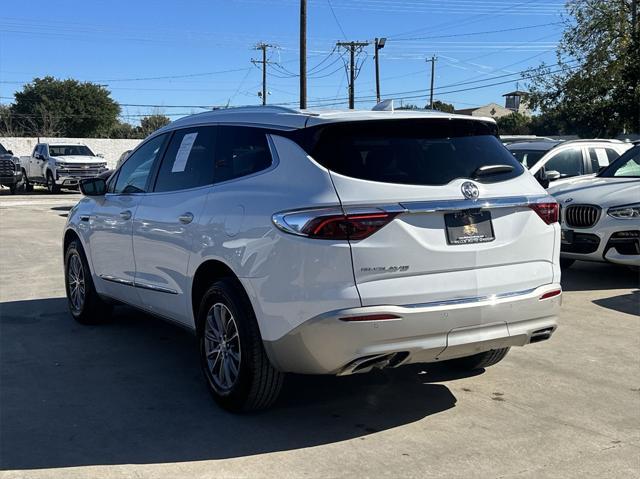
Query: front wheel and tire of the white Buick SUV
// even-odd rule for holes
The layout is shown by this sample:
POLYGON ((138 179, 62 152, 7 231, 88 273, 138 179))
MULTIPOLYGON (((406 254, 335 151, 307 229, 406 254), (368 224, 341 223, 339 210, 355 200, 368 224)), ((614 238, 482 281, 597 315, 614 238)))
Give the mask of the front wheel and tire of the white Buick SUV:
POLYGON ((98 324, 111 316, 111 305, 104 302, 96 292, 80 241, 75 239, 64 255, 64 284, 69 311, 81 324, 98 324), (75 288, 74 289, 74 285, 75 288), (78 292, 78 296, 74 294, 78 292))

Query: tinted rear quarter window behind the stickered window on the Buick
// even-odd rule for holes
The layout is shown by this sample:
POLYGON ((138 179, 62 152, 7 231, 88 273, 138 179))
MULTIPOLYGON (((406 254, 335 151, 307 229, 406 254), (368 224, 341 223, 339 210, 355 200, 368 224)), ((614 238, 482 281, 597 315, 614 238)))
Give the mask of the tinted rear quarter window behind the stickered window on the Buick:
POLYGON ((271 166, 267 134, 260 128, 219 126, 215 181, 257 173, 271 166))

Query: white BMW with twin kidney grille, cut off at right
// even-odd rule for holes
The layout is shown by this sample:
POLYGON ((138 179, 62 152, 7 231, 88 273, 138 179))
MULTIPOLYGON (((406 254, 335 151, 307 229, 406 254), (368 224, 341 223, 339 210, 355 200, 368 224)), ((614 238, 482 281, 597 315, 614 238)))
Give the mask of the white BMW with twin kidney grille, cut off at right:
POLYGON ((549 189, 561 205, 561 264, 606 261, 640 267, 640 145, 591 178, 549 189))

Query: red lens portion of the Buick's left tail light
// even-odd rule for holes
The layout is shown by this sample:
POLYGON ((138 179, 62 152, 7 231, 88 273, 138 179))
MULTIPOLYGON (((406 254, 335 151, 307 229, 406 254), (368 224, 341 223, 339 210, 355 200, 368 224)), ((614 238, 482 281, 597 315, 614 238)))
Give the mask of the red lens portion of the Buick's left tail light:
POLYGON ((361 240, 387 225, 395 213, 320 216, 309 220, 300 230, 309 238, 361 240))

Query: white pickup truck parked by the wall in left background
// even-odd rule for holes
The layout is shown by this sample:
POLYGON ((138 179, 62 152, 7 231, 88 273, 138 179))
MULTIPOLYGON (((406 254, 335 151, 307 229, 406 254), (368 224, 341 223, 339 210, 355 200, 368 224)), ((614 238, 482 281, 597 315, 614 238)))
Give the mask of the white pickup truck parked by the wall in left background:
POLYGON ((83 178, 107 171, 104 158, 80 143, 38 143, 31 156, 20 158, 25 189, 46 186, 50 193, 60 188, 77 188, 83 178))

